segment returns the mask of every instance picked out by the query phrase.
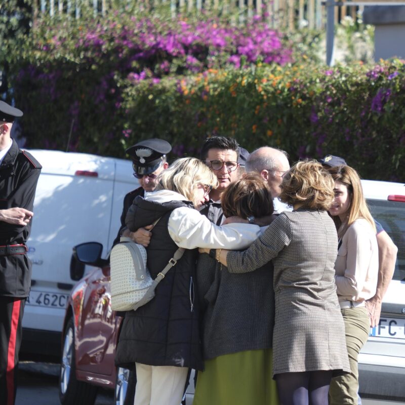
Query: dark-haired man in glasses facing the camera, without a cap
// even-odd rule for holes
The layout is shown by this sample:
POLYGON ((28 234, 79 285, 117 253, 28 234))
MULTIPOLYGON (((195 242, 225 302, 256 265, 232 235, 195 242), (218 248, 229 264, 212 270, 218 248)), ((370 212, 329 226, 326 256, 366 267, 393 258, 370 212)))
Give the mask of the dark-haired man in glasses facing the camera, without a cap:
POLYGON ((215 173, 219 185, 210 192, 210 201, 200 213, 217 225, 221 225, 224 219, 221 194, 232 181, 240 177, 239 148, 236 139, 225 136, 207 138, 201 148, 201 160, 215 173))

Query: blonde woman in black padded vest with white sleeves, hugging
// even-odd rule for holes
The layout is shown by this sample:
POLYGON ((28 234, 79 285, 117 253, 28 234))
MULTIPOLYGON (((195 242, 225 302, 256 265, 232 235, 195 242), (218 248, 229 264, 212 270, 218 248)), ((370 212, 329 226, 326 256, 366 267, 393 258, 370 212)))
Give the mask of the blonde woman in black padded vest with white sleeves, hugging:
POLYGON ((259 235, 258 226, 216 226, 196 210, 217 184, 216 176, 200 160, 178 159, 159 175, 157 191, 136 197, 128 211, 130 231, 160 218, 147 247, 153 278, 179 247, 186 249, 157 286, 155 297, 125 315, 115 362, 136 366, 135 405, 179 405, 188 368, 203 368, 195 297, 196 248, 201 244, 246 248, 259 235))

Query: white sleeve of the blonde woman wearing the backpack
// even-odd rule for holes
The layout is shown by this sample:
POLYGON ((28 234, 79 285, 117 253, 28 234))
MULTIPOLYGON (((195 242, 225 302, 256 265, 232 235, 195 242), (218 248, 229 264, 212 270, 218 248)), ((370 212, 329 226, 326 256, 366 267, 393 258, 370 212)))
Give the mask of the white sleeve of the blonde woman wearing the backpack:
POLYGON ((185 249, 246 249, 261 234, 257 225, 215 225, 204 215, 188 207, 173 210, 168 229, 176 245, 185 249))

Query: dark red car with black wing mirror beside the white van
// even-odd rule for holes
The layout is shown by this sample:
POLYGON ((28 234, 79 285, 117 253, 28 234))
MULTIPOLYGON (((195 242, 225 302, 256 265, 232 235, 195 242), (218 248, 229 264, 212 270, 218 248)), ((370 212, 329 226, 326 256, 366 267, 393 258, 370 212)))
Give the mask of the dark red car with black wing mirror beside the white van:
POLYGON ((98 386, 115 389, 116 405, 134 403, 135 373, 114 365, 123 318, 111 310, 110 266, 102 250, 98 242, 73 249, 72 266, 99 267, 77 282, 68 299, 59 381, 63 405, 94 404, 98 386))

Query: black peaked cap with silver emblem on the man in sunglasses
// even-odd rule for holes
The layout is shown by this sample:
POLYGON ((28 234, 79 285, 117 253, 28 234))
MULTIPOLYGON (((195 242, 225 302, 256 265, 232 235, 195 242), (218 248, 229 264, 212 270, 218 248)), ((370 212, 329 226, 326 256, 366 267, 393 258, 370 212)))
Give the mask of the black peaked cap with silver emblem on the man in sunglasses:
POLYGON ((138 142, 126 150, 131 155, 135 173, 153 173, 163 162, 163 157, 172 150, 169 142, 151 138, 138 142))

